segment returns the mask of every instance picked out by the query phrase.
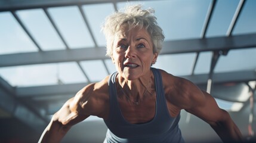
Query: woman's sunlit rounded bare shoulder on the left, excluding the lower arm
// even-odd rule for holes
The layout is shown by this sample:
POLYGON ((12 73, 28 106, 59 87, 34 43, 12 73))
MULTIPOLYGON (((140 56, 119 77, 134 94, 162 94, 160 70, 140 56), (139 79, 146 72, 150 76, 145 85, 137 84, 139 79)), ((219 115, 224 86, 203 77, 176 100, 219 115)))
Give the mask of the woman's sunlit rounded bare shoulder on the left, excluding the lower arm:
POLYGON ((79 114, 104 117, 106 106, 109 105, 109 76, 100 82, 91 83, 74 97, 73 105, 79 114))

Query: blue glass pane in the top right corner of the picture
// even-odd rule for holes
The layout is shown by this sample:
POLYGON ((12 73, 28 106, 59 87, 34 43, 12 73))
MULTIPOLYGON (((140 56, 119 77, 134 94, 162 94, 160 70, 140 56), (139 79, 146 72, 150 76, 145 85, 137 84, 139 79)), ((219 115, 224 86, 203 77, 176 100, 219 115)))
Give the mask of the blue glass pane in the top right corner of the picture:
POLYGON ((256 1, 254 0, 245 1, 232 35, 256 32, 255 5, 256 1))

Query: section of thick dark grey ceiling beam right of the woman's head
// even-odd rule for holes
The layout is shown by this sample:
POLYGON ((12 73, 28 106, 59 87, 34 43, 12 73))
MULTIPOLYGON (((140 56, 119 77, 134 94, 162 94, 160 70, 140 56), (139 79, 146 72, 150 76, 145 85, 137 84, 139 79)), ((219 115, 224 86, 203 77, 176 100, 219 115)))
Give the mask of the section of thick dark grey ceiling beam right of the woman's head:
POLYGON ((220 36, 204 39, 165 41, 161 54, 178 54, 203 51, 229 51, 229 49, 255 48, 256 33, 248 35, 220 36))

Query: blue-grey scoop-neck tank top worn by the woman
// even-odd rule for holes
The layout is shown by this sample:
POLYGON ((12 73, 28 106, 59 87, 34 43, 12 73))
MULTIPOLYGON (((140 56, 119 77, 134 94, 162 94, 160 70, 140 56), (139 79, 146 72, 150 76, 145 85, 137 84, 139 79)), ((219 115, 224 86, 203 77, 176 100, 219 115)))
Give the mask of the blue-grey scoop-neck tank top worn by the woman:
POLYGON ((117 72, 110 76, 110 113, 109 119, 104 120, 108 128, 104 142, 184 142, 178 128, 180 114, 175 118, 169 116, 161 73, 155 68, 151 70, 155 77, 156 113, 152 120, 142 124, 131 124, 124 119, 116 95, 117 72))

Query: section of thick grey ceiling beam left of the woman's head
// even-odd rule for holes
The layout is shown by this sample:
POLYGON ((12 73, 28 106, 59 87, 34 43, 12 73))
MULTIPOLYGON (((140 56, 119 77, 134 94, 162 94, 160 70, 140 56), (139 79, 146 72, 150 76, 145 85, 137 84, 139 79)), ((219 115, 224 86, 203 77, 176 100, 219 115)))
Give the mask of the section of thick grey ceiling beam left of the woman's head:
POLYGON ((8 54, 0 55, 0 67, 66 61, 99 60, 106 59, 107 57, 105 57, 105 54, 106 49, 104 47, 8 54))

